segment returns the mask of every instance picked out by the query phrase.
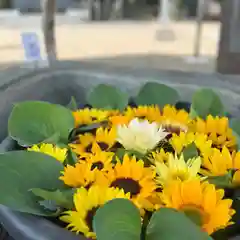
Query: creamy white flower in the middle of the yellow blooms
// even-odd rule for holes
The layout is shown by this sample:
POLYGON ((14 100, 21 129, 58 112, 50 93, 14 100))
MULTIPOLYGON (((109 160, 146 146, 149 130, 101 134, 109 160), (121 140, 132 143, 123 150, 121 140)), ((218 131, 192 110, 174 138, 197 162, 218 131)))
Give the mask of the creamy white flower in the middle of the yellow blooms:
POLYGON ((117 126, 117 141, 125 149, 143 154, 153 149, 168 134, 157 123, 149 123, 147 120, 142 121, 137 118, 133 119, 128 126, 117 126))

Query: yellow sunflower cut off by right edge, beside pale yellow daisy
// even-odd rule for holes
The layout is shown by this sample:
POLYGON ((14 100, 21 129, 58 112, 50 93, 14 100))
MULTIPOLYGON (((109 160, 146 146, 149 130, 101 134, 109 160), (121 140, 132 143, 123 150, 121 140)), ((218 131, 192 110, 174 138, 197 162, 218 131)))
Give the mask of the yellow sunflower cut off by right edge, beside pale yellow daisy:
POLYGON ((227 147, 214 149, 211 156, 203 158, 201 173, 206 176, 222 176, 235 170, 233 184, 240 186, 240 152, 231 153, 227 147))

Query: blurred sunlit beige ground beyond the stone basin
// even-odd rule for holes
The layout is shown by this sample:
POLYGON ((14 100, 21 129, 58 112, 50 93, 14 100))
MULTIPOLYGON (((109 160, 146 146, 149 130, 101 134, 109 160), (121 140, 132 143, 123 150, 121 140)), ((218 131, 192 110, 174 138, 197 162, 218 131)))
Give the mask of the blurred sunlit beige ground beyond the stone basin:
MULTIPOLYGON (((36 31, 41 36, 39 17, 12 18, 0 24, 0 63, 9 64, 24 59, 21 33, 36 31)), ((89 59, 108 64, 178 69, 183 71, 214 71, 219 38, 219 24, 207 22, 203 27, 201 54, 208 62, 188 64, 183 56, 193 54, 194 22, 169 26, 174 41, 158 41, 156 32, 166 28, 156 22, 68 22, 58 18, 57 51, 60 60, 89 59)), ((2 66, 0 68, 5 68, 2 66)))

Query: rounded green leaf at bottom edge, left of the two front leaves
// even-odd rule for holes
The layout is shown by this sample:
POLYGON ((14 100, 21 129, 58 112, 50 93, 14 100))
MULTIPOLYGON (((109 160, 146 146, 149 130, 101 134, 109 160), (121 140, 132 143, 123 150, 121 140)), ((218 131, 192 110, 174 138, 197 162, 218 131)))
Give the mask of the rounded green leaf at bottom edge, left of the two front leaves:
POLYGON ((126 199, 114 199, 99 208, 93 219, 98 240, 140 240, 141 216, 126 199))

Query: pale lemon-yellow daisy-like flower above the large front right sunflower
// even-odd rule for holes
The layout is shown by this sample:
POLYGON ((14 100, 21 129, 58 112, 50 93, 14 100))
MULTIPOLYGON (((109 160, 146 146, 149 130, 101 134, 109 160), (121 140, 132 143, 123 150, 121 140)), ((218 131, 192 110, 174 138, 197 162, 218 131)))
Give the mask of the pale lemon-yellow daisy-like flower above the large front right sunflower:
POLYGON ((156 181, 161 186, 166 186, 173 180, 199 179, 201 158, 192 158, 185 161, 183 154, 178 158, 173 154, 169 155, 167 163, 156 162, 155 171, 157 172, 156 181))

